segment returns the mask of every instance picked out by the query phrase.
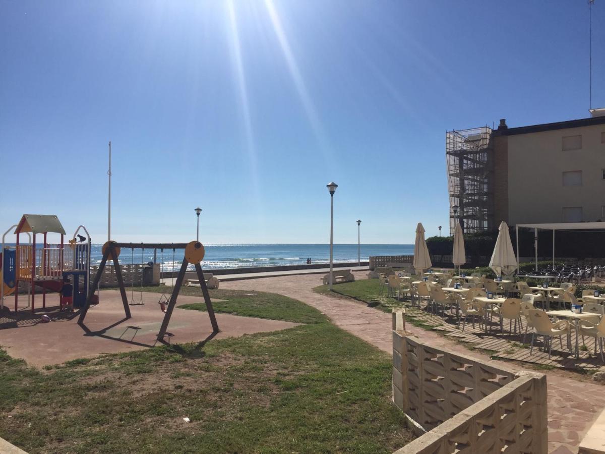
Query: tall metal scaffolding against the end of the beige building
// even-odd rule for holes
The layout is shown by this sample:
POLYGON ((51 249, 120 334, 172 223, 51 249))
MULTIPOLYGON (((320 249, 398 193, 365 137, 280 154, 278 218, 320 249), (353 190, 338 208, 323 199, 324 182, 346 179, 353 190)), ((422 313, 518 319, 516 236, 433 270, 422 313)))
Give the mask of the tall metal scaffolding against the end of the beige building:
POLYGON ((488 127, 448 131, 445 135, 451 235, 457 220, 465 233, 494 228, 491 137, 488 127), (454 206, 459 207, 456 213, 454 206))

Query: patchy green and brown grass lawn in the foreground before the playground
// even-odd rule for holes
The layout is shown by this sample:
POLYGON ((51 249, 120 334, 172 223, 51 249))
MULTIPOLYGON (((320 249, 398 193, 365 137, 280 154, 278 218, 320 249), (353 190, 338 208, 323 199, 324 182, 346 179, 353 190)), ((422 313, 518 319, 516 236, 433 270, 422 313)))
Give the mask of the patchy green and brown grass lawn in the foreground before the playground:
POLYGON ((0 436, 30 453, 374 453, 413 438, 391 406, 387 354, 299 301, 212 295, 227 300, 217 311, 306 324, 47 370, 0 350, 0 436))

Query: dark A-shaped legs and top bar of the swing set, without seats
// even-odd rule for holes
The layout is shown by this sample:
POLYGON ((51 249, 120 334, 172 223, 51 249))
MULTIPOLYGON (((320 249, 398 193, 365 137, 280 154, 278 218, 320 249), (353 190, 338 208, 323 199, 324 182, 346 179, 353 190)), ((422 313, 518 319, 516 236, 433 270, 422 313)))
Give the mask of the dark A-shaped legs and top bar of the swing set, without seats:
MULTIPOLYGON (((198 243, 199 244, 199 243, 198 243)), ((122 279, 122 270, 120 269, 120 262, 117 258, 116 248, 135 248, 135 249, 185 249, 188 243, 117 243, 117 242, 108 242, 108 247, 105 249, 103 253, 103 258, 101 259, 101 263, 99 264, 99 269, 97 273, 94 275, 93 285, 91 286, 91 291, 86 298, 86 303, 80 312, 80 317, 78 318, 78 324, 84 323, 84 318, 90 308, 91 298, 94 294, 94 288, 99 285, 100 278, 103 274, 103 270, 105 269, 105 265, 107 260, 111 258, 114 263, 114 267, 116 269, 116 280, 118 287, 120 289, 120 295, 122 297, 122 304, 124 306, 124 314, 126 315, 126 319, 131 318, 130 308, 128 306, 128 297, 126 295, 126 289, 124 287, 124 281, 122 279)), ((197 246, 196 246, 197 247, 197 246)), ((172 317, 172 311, 174 310, 174 306, 177 304, 177 297, 181 289, 181 285, 183 285, 183 280, 185 280, 185 272, 187 271, 187 266, 189 262, 186 257, 183 257, 183 263, 181 264, 181 269, 177 275, 177 281, 174 284, 174 288, 172 289, 172 295, 170 297, 168 307, 166 308, 166 312, 164 314, 164 319, 162 321, 162 326, 160 327, 160 332, 157 334, 157 340, 163 342, 164 337, 166 335, 166 330, 168 329, 168 324, 170 323, 170 318, 172 317)), ((200 263, 194 263, 195 271, 197 272, 198 280, 200 281, 201 292, 204 295, 204 303, 206 303, 206 310, 208 311, 208 316, 210 317, 210 322, 212 324, 212 333, 216 334, 220 330, 218 329, 217 317, 214 314, 214 308, 212 308, 212 301, 210 300, 210 295, 208 293, 208 287, 206 286, 206 281, 204 280, 204 272, 201 269, 200 263)))

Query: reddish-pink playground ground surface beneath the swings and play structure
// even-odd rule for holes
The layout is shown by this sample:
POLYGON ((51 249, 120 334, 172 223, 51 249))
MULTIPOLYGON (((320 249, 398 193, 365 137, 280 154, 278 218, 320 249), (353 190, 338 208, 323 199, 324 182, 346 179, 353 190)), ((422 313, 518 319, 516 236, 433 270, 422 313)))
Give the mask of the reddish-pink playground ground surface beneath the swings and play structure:
MULTIPOLYGON (((139 292, 134 301, 139 302, 139 292)), ((130 292, 128 298, 130 300, 130 292)), ((157 333, 163 320, 157 293, 142 294, 142 305, 130 306, 132 318, 124 316, 120 292, 104 290, 100 292, 99 304, 91 306, 83 326, 77 324, 78 310, 74 313, 59 312, 59 297, 47 297, 46 311, 36 311, 23 307, 19 317, 14 312, 0 314, 0 346, 13 358, 22 358, 32 366, 64 363, 77 358, 90 358, 103 353, 140 350, 161 343, 157 333), (53 306, 53 307, 49 307, 53 306), (47 314, 53 321, 42 323, 42 315, 47 314)), ((20 302, 27 298, 19 298, 20 302)), ((13 303, 13 298, 4 300, 13 303)), ((186 343, 212 338, 212 326, 206 312, 180 309, 186 303, 203 303, 202 297, 179 295, 177 307, 172 313, 166 342, 186 343)), ((20 304, 20 306, 21 306, 20 304)), ((36 304, 37 305, 37 304, 36 304)), ((220 332, 214 338, 238 337, 257 332, 278 331, 296 326, 297 323, 264 318, 239 317, 231 314, 216 314, 220 332)))

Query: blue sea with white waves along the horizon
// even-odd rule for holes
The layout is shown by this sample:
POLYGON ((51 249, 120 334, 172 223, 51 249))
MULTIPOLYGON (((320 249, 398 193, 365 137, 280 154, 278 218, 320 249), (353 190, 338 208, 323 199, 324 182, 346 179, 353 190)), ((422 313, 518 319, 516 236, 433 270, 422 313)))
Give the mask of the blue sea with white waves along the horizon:
MULTIPOLYGON (((101 262, 102 245, 91 246, 91 264, 101 262)), ((358 245, 334 245, 334 262, 357 262, 358 245)), ((330 245, 204 245, 206 255, 201 263, 204 269, 248 268, 250 266, 305 265, 329 263, 330 245)), ((361 261, 367 262, 370 255, 413 255, 414 245, 361 245, 361 261)), ((155 252, 155 263, 161 263, 162 271, 178 271, 183 262, 184 249, 159 249, 155 252)), ((154 262, 153 249, 123 248, 120 263, 154 262)))

